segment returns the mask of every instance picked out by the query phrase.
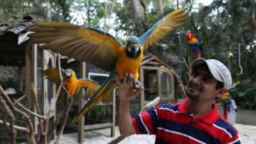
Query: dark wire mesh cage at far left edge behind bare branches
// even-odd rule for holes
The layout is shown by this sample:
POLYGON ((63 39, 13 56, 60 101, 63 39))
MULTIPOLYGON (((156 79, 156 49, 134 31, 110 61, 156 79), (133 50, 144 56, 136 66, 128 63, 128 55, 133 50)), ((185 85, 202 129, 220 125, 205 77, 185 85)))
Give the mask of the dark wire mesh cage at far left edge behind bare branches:
MULTIPOLYGON (((25 94, 25 51, 24 45, 17 45, 17 35, 3 33, 0 35, 0 86, 8 94, 12 102, 25 94)), ((23 103, 24 100, 22 101, 23 103)), ((1 107, 0 107, 1 109, 1 107)), ((0 118, 2 119, 2 111, 0 118)), ((26 127, 20 115, 15 115, 15 125, 26 127)), ((6 119, 10 122, 9 119, 6 119)), ((0 125, 1 143, 10 143, 10 134, 0 125)), ((17 142, 26 141, 26 135, 17 133, 17 142)))

